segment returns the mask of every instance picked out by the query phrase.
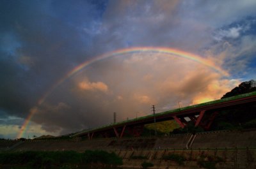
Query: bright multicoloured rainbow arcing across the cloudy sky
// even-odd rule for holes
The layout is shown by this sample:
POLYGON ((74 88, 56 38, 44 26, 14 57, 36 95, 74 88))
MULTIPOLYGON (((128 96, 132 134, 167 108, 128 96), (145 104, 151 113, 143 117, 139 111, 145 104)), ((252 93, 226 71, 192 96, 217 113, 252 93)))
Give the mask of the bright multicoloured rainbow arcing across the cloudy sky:
MULTIPOLYGON (((61 85, 63 82, 65 82, 65 80, 72 77, 74 74, 76 74, 78 71, 82 70, 86 66, 93 64, 94 62, 100 61, 102 59, 107 59, 109 57, 114 57, 117 55, 122 56, 123 54, 132 54, 132 53, 137 53, 137 52, 155 52, 155 53, 183 57, 183 58, 189 59, 191 61, 195 61, 200 64, 204 64, 205 66, 208 66, 212 70, 217 71, 218 73, 221 73, 221 75, 228 76, 228 73, 226 71, 222 70, 220 67, 216 66, 214 64, 214 62, 204 59, 203 57, 200 57, 199 55, 184 52, 182 50, 177 50, 175 48, 164 48, 164 47, 122 48, 120 50, 115 50, 115 51, 109 52, 107 54, 99 55, 97 57, 94 57, 93 59, 83 62, 79 66, 76 66, 76 68, 74 68, 72 71, 67 73, 67 75, 65 75, 63 78, 61 78, 58 82, 56 82, 56 84, 52 85, 52 87, 47 92, 45 92, 45 94, 42 96, 42 98, 40 98, 38 100, 37 106, 42 105, 42 103, 44 103, 44 101, 45 101, 45 98, 47 98, 47 96, 49 96, 49 94, 51 94, 51 92, 54 91, 54 89, 56 89, 56 87, 61 85)), ((22 128, 20 129, 19 134, 17 135, 17 138, 20 138, 23 135, 23 133, 26 131, 29 121, 31 120, 31 118, 33 117, 33 115, 35 114, 36 111, 37 111, 36 107, 31 109, 28 117, 26 118, 24 124, 22 125, 22 128)))

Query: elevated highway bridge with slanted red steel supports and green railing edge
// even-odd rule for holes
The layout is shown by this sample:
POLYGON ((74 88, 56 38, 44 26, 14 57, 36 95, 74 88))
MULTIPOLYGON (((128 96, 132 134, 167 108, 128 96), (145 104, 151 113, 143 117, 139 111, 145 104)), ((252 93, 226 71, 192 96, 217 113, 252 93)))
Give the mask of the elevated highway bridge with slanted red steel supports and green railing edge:
POLYGON ((147 115, 136 119, 117 122, 115 124, 109 124, 100 128, 87 129, 78 132, 73 136, 87 136, 89 140, 92 139, 93 136, 97 135, 101 135, 106 138, 113 136, 122 138, 122 136, 127 134, 140 136, 145 124, 150 124, 154 121, 161 122, 175 120, 181 128, 184 128, 188 124, 188 121, 186 120, 188 118, 195 123, 195 126, 201 126, 207 130, 211 127, 211 124, 218 112, 237 107, 246 107, 248 104, 256 105, 256 92, 209 101, 189 107, 168 110, 155 115, 147 115))

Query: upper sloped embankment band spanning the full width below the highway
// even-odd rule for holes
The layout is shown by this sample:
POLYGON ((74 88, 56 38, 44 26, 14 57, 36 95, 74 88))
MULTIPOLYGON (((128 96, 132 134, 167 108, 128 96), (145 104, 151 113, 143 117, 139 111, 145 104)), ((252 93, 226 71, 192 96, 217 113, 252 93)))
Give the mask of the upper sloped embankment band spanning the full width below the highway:
POLYGON ((26 140, 0 141, 0 151, 73 150, 164 150, 164 149, 256 149, 256 130, 212 131, 171 135, 163 138, 98 138, 94 140, 26 140))

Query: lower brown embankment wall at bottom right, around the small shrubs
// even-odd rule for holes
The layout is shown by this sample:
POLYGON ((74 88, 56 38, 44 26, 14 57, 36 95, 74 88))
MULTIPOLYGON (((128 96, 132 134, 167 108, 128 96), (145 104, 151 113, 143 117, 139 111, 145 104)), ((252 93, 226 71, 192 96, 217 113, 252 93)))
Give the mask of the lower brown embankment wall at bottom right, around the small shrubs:
MULTIPOLYGON (((182 150, 182 151, 114 151, 117 155, 129 154, 130 156, 120 156, 123 158, 122 168, 141 168, 144 161, 153 163, 150 168, 199 168, 198 161, 200 157, 205 157, 205 161, 211 158, 220 158, 223 161, 216 164, 216 168, 225 169, 255 169, 256 168, 256 149, 214 149, 214 150, 182 150), (147 154, 147 159, 132 159, 131 154, 138 156, 147 154), (162 157, 168 154, 179 154, 186 158, 184 165, 178 165, 175 161, 163 160, 162 157)), ((202 160, 202 158, 201 158, 202 160)))

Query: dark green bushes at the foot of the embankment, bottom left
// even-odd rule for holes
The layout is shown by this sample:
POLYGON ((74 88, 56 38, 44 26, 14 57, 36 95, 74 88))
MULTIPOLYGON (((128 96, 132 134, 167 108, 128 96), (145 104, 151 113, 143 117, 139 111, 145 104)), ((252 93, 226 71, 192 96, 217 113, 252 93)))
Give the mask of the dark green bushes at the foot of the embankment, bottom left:
POLYGON ((106 151, 27 151, 27 152, 1 152, 0 164, 23 165, 31 168, 62 168, 65 165, 92 165, 103 166, 122 165, 122 158, 114 152, 106 151))

